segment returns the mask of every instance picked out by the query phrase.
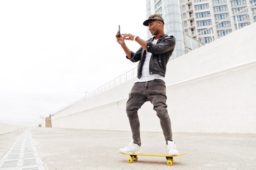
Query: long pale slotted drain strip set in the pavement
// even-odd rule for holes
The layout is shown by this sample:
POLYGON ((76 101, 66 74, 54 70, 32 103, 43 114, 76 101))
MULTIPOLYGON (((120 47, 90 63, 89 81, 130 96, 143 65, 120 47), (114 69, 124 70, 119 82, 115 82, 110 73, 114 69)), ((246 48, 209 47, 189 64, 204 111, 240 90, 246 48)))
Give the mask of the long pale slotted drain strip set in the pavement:
POLYGON ((26 130, 14 142, 14 145, 0 159, 1 170, 45 170, 36 147, 33 144, 31 131, 26 130))

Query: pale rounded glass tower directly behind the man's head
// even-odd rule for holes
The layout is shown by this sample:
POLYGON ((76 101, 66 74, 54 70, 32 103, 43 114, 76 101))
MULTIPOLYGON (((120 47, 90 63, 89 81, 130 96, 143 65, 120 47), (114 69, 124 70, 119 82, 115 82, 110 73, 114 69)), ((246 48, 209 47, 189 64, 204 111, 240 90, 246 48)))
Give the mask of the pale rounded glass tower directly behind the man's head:
MULTIPOLYGON (((164 32, 168 35, 174 35, 176 38, 176 47, 170 60, 185 54, 184 45, 178 45, 183 42, 183 27, 181 18, 181 5, 179 0, 146 0, 147 18, 154 13, 160 13, 164 18, 164 32), (178 46, 177 46, 178 45, 178 46)), ((148 31, 148 38, 151 33, 148 31)))

